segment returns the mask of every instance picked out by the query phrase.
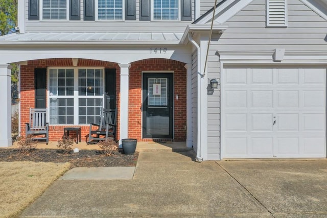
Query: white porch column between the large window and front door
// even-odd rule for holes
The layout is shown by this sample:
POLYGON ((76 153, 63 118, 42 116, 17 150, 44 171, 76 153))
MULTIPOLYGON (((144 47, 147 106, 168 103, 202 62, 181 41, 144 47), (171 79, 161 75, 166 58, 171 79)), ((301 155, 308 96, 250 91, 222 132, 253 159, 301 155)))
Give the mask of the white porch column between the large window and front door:
POLYGON ((129 91, 129 68, 131 64, 118 64, 121 67, 121 98, 120 98, 120 136, 122 139, 128 138, 128 91, 129 91))

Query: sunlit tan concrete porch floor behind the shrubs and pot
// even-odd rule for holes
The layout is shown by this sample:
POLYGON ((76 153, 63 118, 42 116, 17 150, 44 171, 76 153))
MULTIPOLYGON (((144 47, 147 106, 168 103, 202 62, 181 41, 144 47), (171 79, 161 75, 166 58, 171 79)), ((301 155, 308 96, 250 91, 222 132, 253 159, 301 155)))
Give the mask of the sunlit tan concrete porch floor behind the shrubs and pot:
MULTIPOLYGON (((38 142, 38 149, 58 149, 57 141, 49 141, 49 144, 45 142, 38 142)), ((3 147, 3 148, 16 148, 17 143, 14 142, 11 147, 3 147)), ((79 150, 99 150, 98 144, 87 144, 85 141, 79 142, 78 144, 74 142, 73 148, 78 148, 79 150)), ((154 142, 154 141, 138 141, 136 145, 136 151, 190 151, 192 148, 186 148, 185 141, 178 142, 154 142)))

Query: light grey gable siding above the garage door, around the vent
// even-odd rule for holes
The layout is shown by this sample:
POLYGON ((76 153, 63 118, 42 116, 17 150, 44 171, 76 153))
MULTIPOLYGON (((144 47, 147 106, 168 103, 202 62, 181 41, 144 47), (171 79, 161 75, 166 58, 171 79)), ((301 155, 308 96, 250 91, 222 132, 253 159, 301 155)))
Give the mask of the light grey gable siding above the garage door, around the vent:
POLYGON ((326 51, 327 22, 299 0, 288 0, 288 28, 266 27, 266 1, 256 0, 230 18, 219 50, 326 51))

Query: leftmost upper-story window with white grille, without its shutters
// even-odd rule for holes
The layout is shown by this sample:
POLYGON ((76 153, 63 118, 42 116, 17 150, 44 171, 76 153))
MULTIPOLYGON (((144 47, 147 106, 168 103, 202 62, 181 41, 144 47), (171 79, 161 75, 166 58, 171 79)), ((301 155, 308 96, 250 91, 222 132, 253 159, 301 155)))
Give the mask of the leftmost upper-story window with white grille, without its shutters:
POLYGON ((42 0, 42 19, 44 20, 66 20, 66 0, 42 0))

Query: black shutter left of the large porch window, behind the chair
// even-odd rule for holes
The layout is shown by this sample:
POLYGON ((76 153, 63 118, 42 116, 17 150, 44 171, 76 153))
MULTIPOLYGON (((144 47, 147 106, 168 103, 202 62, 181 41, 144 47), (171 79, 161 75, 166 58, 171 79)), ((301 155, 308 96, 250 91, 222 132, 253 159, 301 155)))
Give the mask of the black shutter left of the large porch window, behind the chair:
POLYGON ((34 69, 35 108, 45 108, 46 102, 46 68, 34 69))

